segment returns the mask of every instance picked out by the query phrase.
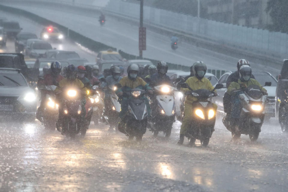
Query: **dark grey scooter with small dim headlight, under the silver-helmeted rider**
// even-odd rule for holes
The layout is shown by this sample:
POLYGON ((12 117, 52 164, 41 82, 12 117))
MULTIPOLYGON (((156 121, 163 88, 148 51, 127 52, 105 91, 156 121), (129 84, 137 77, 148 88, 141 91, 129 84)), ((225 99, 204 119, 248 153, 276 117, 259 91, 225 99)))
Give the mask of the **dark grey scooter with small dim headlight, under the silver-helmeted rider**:
MULTIPOLYGON (((117 88, 122 87, 121 84, 116 84, 116 86, 117 88)), ((129 98, 128 114, 124 130, 119 131, 125 133, 129 140, 136 137, 137 141, 141 141, 143 135, 146 133, 148 112, 145 99, 143 98, 145 93, 145 90, 139 88, 123 93, 126 98, 129 98)), ((120 98, 120 103, 122 102, 122 98, 120 98)))

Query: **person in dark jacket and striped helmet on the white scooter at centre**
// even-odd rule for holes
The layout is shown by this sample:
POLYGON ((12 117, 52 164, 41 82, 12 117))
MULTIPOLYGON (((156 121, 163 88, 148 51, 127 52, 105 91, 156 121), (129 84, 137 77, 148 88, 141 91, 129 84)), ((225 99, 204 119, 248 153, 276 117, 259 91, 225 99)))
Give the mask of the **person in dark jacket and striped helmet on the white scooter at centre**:
POLYGON ((151 82, 155 82, 155 86, 157 85, 171 85, 173 86, 173 83, 168 75, 166 75, 168 71, 168 65, 166 62, 161 61, 157 64, 157 72, 151 76, 151 82))

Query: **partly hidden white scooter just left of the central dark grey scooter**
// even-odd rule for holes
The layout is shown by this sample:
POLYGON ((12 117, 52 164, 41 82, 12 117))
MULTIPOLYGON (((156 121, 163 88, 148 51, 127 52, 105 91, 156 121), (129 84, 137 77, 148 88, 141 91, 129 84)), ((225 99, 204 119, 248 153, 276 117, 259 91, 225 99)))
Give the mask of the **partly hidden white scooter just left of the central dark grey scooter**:
POLYGON ((119 98, 115 93, 117 89, 116 86, 109 86, 109 105, 107 109, 104 107, 103 116, 105 121, 110 125, 110 128, 116 127, 120 121, 119 113, 121 110, 121 104, 119 103, 119 98))

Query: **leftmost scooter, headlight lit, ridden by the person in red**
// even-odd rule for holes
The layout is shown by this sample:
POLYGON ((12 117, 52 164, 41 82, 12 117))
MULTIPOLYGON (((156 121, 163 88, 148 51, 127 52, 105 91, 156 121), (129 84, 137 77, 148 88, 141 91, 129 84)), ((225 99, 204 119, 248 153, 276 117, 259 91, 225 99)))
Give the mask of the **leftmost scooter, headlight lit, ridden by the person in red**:
POLYGON ((45 107, 43 116, 41 117, 45 129, 55 130, 55 119, 58 118, 58 107, 59 105, 55 101, 54 90, 55 85, 46 85, 40 88, 40 91, 46 93, 45 107))

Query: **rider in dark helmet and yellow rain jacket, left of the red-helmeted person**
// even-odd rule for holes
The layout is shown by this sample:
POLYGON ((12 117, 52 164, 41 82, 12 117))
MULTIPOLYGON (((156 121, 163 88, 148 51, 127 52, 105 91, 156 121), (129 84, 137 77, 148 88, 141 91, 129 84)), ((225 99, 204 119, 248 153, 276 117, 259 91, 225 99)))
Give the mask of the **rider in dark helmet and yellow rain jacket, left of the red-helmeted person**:
MULTIPOLYGON (((75 87, 77 89, 82 90, 83 95, 86 94, 87 89, 84 87, 84 84, 82 83, 82 81, 80 79, 77 79, 77 75, 78 75, 78 68, 75 67, 73 64, 72 65, 68 65, 66 68, 66 78, 62 79, 59 82, 59 86, 55 89, 55 94, 56 94, 56 100, 58 100, 59 103, 59 117, 58 117, 58 121, 56 123, 56 128, 58 130, 58 128, 61 126, 62 128, 64 128, 63 125, 63 96, 61 93, 62 90, 66 87, 72 86, 75 87), (57 125, 58 124, 58 125, 57 125)), ((85 97, 83 96, 81 99, 81 114, 82 117, 84 119, 85 114, 86 114, 86 110, 85 110, 85 104, 86 104, 86 100, 85 97)), ((66 130, 62 129, 62 134, 65 133, 66 130)))

